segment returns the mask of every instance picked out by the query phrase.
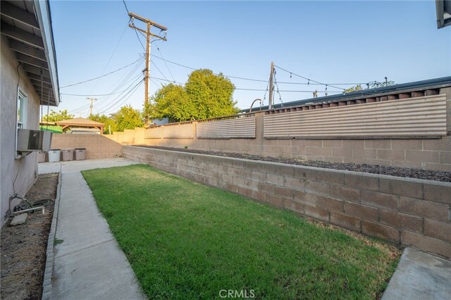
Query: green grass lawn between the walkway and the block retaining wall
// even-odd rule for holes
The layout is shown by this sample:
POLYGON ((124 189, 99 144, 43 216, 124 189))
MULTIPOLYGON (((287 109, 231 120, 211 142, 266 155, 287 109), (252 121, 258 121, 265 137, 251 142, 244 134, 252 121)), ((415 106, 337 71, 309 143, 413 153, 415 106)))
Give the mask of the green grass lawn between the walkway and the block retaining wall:
POLYGON ((399 258, 375 239, 148 165, 83 176, 149 299, 219 298, 224 289, 256 299, 375 299, 399 258))

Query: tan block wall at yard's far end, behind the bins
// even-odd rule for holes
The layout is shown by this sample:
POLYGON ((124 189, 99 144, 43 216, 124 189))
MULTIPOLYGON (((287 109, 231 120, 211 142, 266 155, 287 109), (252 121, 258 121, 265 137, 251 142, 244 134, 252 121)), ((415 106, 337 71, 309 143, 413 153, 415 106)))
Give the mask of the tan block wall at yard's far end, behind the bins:
POLYGON ((105 135, 54 134, 51 139, 51 148, 86 148, 86 159, 122 156, 122 144, 105 135))

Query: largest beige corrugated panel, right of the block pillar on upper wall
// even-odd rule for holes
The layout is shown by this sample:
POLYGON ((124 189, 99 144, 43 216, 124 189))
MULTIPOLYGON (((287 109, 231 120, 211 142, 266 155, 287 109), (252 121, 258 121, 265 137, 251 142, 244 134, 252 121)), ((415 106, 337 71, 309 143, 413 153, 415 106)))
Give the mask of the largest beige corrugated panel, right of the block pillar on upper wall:
POLYGON ((446 96, 264 115, 265 138, 446 135, 446 96))

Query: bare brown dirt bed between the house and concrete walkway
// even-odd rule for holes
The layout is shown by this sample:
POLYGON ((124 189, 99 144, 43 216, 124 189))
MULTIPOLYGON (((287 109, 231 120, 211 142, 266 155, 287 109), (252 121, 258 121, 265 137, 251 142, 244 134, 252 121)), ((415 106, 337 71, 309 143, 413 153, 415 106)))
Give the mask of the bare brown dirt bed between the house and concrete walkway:
POLYGON ((28 213, 22 225, 1 228, 1 299, 41 299, 47 239, 54 213, 58 173, 39 175, 25 195, 31 204, 49 199, 45 214, 28 213))

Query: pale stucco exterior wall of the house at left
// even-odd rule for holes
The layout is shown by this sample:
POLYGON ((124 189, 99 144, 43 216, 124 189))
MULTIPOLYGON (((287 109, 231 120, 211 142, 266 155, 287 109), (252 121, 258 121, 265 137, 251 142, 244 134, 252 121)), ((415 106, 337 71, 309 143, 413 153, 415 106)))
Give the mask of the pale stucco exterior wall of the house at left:
MULTIPOLYGON (((37 153, 16 159, 16 115, 18 82, 20 89, 27 94, 26 128, 37 130, 39 128, 39 96, 32 87, 30 80, 18 68, 18 61, 9 49, 8 39, 1 36, 1 106, 0 106, 0 163, 1 163, 1 189, 0 211, 3 226, 6 211, 9 209, 9 197, 16 192, 20 196, 32 187, 37 178, 37 153), (17 178, 16 178, 17 177, 17 178), (16 182, 13 187, 13 182, 16 182)), ((13 201, 11 207, 17 204, 13 201)))

